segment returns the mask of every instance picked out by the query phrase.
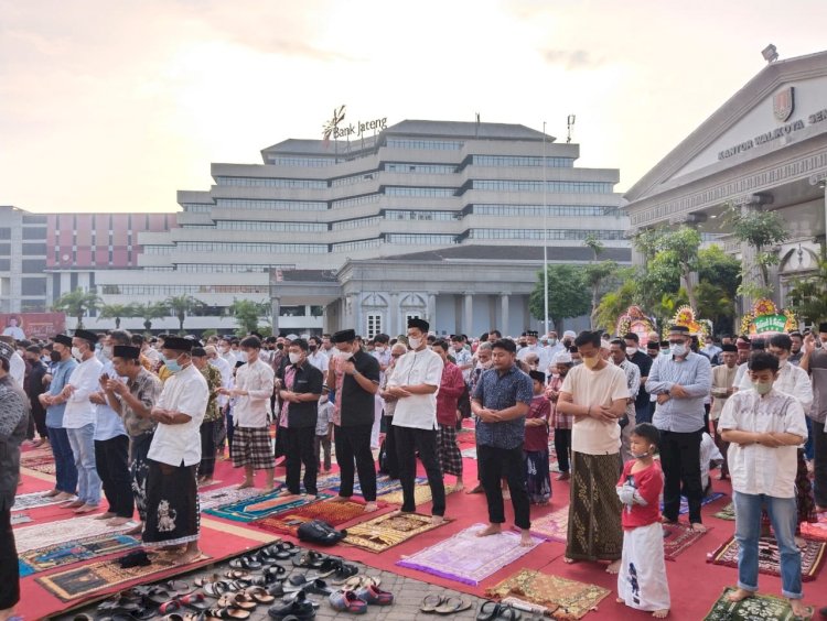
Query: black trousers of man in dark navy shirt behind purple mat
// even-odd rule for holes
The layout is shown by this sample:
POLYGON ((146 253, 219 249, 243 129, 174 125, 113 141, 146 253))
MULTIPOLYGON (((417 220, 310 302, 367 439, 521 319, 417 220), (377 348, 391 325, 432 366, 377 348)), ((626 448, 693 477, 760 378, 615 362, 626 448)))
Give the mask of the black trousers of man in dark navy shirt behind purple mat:
POLYGON ((488 522, 492 524, 502 524, 505 522, 503 489, 501 487, 501 480, 505 477, 512 494, 514 524, 518 529, 530 527, 528 492, 526 491, 526 478, 523 466, 523 446, 496 448, 477 445, 476 459, 481 466, 482 484, 485 490, 485 500, 488 503, 488 522))

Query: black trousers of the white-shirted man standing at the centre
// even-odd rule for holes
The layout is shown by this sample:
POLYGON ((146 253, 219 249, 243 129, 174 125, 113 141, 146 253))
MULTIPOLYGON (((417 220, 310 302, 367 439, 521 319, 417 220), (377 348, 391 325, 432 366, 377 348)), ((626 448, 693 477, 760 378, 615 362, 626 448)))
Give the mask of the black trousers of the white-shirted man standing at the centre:
POLYGON ((416 429, 412 427, 393 426, 396 436, 396 455, 399 459, 399 481, 402 483, 402 511, 415 513, 414 488, 417 477, 417 451, 422 460, 428 486, 431 488, 433 498, 433 515, 445 514, 445 483, 442 480, 442 468, 437 456, 437 431, 416 429))

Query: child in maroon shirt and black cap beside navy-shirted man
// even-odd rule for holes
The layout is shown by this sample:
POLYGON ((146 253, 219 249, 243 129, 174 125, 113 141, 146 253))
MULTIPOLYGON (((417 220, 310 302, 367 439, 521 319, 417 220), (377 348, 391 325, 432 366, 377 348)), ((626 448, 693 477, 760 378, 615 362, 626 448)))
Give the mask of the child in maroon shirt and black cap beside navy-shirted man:
POLYGON ((526 469, 526 489, 531 504, 548 504, 551 499, 551 478, 548 473, 548 417, 551 407, 546 397, 546 374, 529 371, 534 384, 531 408, 526 416, 526 436, 523 460, 526 469))

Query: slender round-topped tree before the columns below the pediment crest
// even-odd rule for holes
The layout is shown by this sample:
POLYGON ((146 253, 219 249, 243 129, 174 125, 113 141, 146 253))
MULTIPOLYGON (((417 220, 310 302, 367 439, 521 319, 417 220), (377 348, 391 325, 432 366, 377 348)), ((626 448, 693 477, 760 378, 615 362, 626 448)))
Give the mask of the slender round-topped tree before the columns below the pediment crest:
POLYGON ((729 222, 732 236, 755 251, 752 262, 744 260, 741 266, 739 293, 748 297, 771 297, 770 266, 777 265, 778 253, 772 249, 790 237, 784 220, 776 211, 760 211, 730 207, 729 222), (758 282, 756 282, 758 281, 758 282))

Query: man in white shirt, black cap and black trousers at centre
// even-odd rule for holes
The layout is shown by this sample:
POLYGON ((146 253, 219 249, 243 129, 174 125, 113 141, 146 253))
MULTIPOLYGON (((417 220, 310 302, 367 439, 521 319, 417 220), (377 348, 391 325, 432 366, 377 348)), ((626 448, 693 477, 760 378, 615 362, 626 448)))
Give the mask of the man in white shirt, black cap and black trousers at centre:
POLYGON ((445 514, 445 486, 437 457, 437 391, 442 381, 442 358, 427 347, 429 328, 423 319, 408 320, 410 351, 396 361, 385 394, 397 400, 394 410, 396 453, 399 458, 399 480, 402 484, 402 513, 415 513, 415 479, 417 459, 422 460, 428 486, 433 497, 431 513, 434 524, 445 514))

